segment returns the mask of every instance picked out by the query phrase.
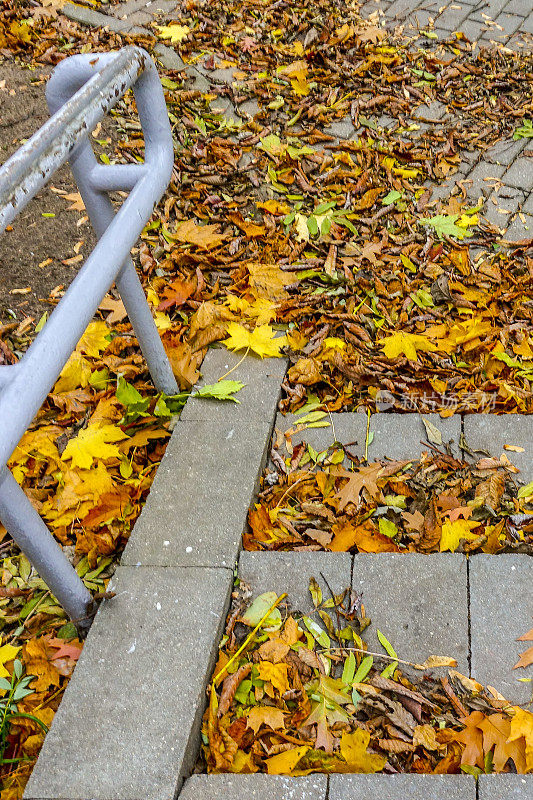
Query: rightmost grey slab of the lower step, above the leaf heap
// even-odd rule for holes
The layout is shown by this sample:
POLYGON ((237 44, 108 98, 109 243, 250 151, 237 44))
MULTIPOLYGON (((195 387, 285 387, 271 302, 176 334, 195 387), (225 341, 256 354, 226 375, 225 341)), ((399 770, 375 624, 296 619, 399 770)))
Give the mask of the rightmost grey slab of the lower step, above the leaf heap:
POLYGON ((470 561, 472 677, 494 686, 512 704, 531 700, 533 668, 513 670, 531 628, 533 559, 526 555, 475 555, 470 561))

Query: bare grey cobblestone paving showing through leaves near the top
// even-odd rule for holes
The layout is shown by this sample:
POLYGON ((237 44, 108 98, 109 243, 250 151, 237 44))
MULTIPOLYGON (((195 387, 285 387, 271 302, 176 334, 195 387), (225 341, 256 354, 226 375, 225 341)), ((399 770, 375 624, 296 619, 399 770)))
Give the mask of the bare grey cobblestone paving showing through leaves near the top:
MULTIPOLYGON (((127 0, 109 6, 109 14, 102 14, 84 6, 67 4, 63 11, 71 19, 92 26, 108 25, 123 33, 147 32, 151 22, 177 19, 175 0, 127 0)), ((462 31, 472 42, 484 46, 505 46, 519 50, 533 47, 533 3, 531 0, 367 0, 362 5, 364 16, 375 19, 386 28, 401 26, 404 34, 411 36, 417 46, 424 46, 435 35, 440 39, 462 31), (373 16, 372 16, 373 15, 373 16)), ((210 82, 233 81, 233 70, 209 71, 201 62, 194 67, 184 65, 178 54, 166 45, 159 44, 156 52, 161 63, 170 69, 186 69, 191 86, 207 91, 210 82)), ((224 110, 226 116, 235 115, 231 104, 224 110)), ((254 104, 240 107, 240 112, 253 114, 254 104)), ((420 135, 428 126, 445 126, 451 122, 445 106, 434 102, 419 106, 411 117, 415 126, 412 136, 420 135)), ((379 125, 395 124, 382 115, 379 125)), ((327 133, 339 138, 352 138, 357 134, 350 118, 333 123, 327 133)), ((471 152, 463 155, 459 171, 438 186, 432 185, 432 200, 448 199, 453 194, 466 193, 472 202, 485 201, 482 214, 500 228, 505 239, 518 241, 533 236, 533 161, 531 140, 502 141, 481 156, 471 152)))

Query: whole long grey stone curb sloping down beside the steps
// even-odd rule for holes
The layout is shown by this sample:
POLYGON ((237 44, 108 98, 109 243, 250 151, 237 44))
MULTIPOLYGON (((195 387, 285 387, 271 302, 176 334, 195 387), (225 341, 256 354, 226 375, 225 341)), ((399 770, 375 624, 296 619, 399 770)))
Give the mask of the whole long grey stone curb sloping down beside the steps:
POLYGON ((201 407, 218 419, 177 422, 25 800, 170 800, 190 774, 285 369, 263 380, 269 361, 246 361, 261 390, 250 386, 237 416, 201 407))

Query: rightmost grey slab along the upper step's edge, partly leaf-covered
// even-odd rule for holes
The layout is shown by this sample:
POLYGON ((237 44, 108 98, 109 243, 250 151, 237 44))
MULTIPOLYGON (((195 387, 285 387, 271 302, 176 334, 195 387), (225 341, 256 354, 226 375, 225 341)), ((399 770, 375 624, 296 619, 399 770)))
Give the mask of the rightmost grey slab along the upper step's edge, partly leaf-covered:
MULTIPOLYGON (((483 450, 499 458, 505 453, 520 473, 520 482, 533 480, 533 416, 528 414, 467 414, 464 419, 466 444, 472 450, 483 450), (524 448, 523 453, 505 451, 504 445, 524 448)), ((478 458, 482 457, 480 453, 478 458)))

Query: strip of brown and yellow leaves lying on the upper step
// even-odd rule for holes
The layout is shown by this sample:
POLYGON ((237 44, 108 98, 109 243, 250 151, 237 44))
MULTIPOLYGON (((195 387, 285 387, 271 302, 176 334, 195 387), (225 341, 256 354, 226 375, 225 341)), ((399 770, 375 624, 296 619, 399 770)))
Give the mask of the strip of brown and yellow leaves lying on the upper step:
POLYGON ((249 512, 247 550, 533 555, 533 484, 517 485, 505 453, 472 464, 429 445, 418 461, 366 463, 348 445, 293 446, 302 427, 274 442, 275 470, 267 468, 249 512))

